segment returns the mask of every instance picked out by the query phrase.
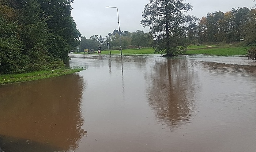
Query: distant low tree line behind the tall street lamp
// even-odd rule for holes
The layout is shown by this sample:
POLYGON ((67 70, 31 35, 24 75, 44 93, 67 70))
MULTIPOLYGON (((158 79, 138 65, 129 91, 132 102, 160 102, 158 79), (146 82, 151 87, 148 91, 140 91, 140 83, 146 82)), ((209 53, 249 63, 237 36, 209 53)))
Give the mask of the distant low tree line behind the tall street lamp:
MULTIPOLYGON (((131 49, 131 48, 142 48, 142 47, 151 47, 153 38, 150 33, 145 33, 143 30, 137 30, 135 32, 129 31, 120 31, 121 33, 121 46, 122 49, 131 49)), ((107 36, 102 37, 101 35, 93 35, 89 39, 83 37, 80 41, 80 46, 78 51, 83 52, 84 49, 98 49, 98 45, 101 45, 102 50, 107 50, 109 42, 110 50, 120 49, 120 38, 119 32, 117 29, 113 33, 108 33, 107 36)))

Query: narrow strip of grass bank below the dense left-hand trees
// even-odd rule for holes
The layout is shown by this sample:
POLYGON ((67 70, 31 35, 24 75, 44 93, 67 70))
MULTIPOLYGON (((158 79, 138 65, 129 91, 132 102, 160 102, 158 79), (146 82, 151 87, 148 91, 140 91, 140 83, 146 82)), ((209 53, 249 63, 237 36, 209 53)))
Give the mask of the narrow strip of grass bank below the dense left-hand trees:
POLYGON ((82 70, 83 70, 82 68, 76 68, 76 69, 61 68, 61 69, 56 69, 52 71, 36 71, 36 72, 22 73, 22 74, 0 75, 0 85, 39 80, 39 79, 45 79, 45 78, 61 76, 61 75, 68 75, 68 74, 79 72, 82 70))

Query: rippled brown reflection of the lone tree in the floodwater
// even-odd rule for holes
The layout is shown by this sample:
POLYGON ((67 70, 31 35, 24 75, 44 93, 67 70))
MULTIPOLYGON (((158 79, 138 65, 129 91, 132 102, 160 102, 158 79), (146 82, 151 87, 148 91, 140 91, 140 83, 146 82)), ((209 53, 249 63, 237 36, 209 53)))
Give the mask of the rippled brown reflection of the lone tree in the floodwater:
MULTIPOLYGON (((147 81, 149 104, 158 120, 171 130, 188 123, 193 112, 193 96, 197 86, 196 76, 189 68, 188 60, 156 59, 147 81)), ((198 85, 198 84, 197 84, 198 85)))

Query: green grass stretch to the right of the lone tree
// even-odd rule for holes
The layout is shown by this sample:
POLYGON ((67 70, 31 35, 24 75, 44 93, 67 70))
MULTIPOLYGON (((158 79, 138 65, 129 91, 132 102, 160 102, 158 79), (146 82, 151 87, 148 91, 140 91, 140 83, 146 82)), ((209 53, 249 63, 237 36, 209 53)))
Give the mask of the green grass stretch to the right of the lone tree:
POLYGON ((209 47, 205 49, 187 50, 187 55, 204 54, 217 56, 246 55, 249 47, 209 47))

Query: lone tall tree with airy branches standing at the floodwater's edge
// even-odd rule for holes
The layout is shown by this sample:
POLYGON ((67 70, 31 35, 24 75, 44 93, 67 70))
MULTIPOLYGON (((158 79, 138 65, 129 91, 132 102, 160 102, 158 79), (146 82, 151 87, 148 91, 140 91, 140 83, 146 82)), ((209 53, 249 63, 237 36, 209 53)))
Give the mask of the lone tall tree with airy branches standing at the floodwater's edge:
POLYGON ((184 1, 150 0, 145 5, 141 24, 150 27, 155 52, 166 53, 167 56, 185 53, 188 46, 187 26, 195 17, 185 14, 192 10, 192 5, 184 1))

